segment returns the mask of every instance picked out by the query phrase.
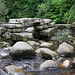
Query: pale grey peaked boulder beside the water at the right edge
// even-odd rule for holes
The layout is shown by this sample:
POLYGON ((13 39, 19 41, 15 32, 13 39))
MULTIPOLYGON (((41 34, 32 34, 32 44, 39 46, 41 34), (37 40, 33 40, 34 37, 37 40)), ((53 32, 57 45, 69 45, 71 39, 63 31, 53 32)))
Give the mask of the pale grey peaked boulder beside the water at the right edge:
POLYGON ((65 55, 65 56, 69 56, 71 54, 73 54, 73 46, 69 45, 66 42, 63 42, 62 44, 59 45, 57 52, 60 55, 65 55))

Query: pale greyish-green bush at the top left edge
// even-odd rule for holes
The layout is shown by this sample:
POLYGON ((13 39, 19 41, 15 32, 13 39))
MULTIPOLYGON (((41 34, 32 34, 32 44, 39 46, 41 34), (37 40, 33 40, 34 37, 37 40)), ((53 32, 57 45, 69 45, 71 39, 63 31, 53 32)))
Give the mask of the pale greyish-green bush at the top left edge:
POLYGON ((5 15, 8 13, 5 0, 0 0, 0 23, 5 21, 5 15))

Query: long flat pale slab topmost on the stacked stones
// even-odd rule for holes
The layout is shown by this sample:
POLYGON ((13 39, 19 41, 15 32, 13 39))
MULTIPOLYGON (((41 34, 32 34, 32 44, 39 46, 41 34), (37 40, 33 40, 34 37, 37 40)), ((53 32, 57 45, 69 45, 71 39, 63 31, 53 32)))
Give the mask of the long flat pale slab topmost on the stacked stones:
POLYGON ((18 18, 18 19, 9 19, 11 24, 24 24, 25 26, 33 26, 35 23, 43 23, 44 20, 40 18, 18 18))

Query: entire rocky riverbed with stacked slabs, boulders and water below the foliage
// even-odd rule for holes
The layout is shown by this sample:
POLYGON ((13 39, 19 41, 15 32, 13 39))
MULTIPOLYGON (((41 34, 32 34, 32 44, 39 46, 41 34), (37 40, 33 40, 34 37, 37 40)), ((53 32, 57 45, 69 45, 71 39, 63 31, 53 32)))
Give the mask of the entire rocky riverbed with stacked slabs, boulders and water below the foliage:
POLYGON ((74 28, 36 18, 1 24, 0 75, 75 75, 74 28))

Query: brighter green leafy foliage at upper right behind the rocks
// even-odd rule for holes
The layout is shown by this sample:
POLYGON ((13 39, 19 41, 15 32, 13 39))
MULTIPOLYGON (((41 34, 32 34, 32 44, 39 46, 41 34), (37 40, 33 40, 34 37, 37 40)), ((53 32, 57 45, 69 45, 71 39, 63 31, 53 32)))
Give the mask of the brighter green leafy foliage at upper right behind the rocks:
POLYGON ((71 23, 75 20, 73 3, 74 0, 46 0, 38 5, 36 17, 51 18, 55 23, 71 23))

